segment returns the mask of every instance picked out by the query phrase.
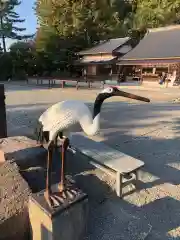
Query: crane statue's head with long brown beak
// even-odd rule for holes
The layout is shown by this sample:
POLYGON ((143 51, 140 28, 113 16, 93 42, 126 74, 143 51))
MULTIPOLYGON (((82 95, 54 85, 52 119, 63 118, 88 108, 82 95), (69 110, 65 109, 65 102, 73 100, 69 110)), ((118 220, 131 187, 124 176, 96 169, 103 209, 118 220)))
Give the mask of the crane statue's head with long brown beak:
POLYGON ((123 92, 119 90, 117 87, 112 87, 112 86, 103 89, 103 91, 98 95, 98 98, 99 100, 104 101, 107 98, 115 97, 115 96, 127 97, 127 98, 131 98, 131 99, 135 99, 143 102, 150 102, 148 98, 141 97, 132 93, 123 92))

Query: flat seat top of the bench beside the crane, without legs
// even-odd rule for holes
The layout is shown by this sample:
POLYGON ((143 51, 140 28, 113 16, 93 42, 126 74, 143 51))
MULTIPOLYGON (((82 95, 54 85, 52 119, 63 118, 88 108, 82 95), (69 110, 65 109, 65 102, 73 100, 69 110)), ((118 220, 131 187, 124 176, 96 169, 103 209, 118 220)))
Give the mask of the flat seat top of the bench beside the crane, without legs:
POLYGON ((121 174, 131 173, 144 166, 144 162, 113 149, 102 142, 89 139, 81 133, 71 135, 71 145, 84 155, 121 174))

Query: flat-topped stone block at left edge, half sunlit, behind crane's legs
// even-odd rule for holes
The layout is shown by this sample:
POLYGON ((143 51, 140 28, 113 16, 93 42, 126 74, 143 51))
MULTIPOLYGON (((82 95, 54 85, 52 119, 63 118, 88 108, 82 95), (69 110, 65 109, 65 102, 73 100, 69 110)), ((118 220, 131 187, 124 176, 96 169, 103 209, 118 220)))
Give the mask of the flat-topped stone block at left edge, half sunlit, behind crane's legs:
POLYGON ((5 159, 15 161, 20 169, 41 165, 47 155, 45 148, 25 136, 2 138, 0 149, 4 152, 5 159))

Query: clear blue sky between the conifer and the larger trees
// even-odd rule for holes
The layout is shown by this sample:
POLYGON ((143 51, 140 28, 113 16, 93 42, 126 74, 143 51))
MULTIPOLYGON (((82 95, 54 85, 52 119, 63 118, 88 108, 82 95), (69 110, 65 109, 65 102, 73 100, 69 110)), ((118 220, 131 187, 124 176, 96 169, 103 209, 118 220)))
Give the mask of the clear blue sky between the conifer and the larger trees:
MULTIPOLYGON (((25 19, 24 23, 20 23, 19 26, 25 27, 26 31, 23 34, 34 34, 36 31, 36 16, 34 14, 34 3, 35 0, 21 0, 21 5, 19 5, 15 11, 19 13, 22 19, 25 19)), ((11 39, 7 39, 7 47, 11 45, 13 41, 11 39)))

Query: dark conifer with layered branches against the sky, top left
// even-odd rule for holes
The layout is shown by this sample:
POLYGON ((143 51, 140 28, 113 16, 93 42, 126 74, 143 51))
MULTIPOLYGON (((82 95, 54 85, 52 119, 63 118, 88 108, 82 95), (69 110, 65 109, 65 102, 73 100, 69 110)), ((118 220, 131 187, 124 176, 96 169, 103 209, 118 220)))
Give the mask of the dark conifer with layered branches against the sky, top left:
POLYGON ((22 40, 32 37, 32 35, 20 34, 26 29, 16 25, 25 21, 24 19, 21 19, 19 14, 14 11, 14 8, 20 4, 21 2, 18 0, 10 0, 1 11, 0 37, 2 38, 4 52, 6 52, 6 38, 22 40))

